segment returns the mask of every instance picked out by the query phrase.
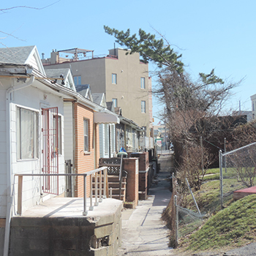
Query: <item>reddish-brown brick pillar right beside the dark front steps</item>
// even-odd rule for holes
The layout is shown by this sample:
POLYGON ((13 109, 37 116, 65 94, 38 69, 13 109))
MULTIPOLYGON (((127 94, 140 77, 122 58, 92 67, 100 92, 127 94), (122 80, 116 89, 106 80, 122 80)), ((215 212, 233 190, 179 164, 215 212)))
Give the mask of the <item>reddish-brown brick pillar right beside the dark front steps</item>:
POLYGON ((127 171, 127 202, 135 202, 138 205, 139 196, 139 170, 138 158, 124 158, 124 170, 127 171))

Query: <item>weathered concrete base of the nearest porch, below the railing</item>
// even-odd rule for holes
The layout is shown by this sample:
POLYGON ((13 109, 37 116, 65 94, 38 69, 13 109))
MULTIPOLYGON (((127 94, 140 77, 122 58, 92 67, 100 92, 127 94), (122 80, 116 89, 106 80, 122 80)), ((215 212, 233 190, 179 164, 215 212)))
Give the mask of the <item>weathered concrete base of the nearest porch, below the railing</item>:
POLYGON ((88 217, 12 217, 9 255, 115 256, 121 245, 122 209, 121 201, 115 201, 108 199, 111 211, 88 217))

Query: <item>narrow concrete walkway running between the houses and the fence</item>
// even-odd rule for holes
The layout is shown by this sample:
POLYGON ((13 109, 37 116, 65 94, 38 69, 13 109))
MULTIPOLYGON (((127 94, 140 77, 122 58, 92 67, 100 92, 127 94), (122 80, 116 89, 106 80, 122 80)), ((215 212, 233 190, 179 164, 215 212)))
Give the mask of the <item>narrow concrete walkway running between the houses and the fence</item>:
POLYGON ((122 212, 122 244, 118 256, 171 255, 168 247, 167 227, 162 222, 163 209, 170 201, 170 151, 162 151, 159 157, 160 173, 151 186, 147 200, 140 200, 135 210, 122 212))

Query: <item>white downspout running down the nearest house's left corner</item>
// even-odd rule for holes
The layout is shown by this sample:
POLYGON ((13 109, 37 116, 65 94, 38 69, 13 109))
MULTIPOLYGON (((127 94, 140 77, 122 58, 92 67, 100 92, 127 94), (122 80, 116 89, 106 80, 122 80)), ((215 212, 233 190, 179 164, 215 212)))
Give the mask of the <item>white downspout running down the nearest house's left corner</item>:
POLYGON ((6 92, 6 129, 7 129, 7 216, 5 222, 4 233, 4 256, 8 256, 10 243, 10 224, 12 218, 12 127, 11 121, 11 93, 20 89, 24 89, 34 83, 34 75, 28 82, 13 86, 6 92))

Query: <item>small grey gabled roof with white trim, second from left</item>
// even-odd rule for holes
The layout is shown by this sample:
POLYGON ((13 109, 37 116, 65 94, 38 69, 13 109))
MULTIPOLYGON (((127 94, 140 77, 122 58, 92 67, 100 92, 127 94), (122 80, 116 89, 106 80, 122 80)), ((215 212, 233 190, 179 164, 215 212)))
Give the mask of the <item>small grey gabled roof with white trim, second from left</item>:
POLYGON ((62 80, 57 80, 56 83, 59 83, 59 85, 65 86, 73 91, 76 91, 75 83, 70 69, 46 69, 45 73, 48 78, 61 78, 61 76, 64 76, 64 84, 61 83, 62 80))

